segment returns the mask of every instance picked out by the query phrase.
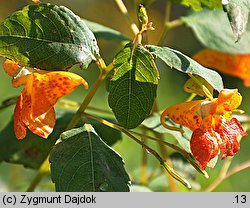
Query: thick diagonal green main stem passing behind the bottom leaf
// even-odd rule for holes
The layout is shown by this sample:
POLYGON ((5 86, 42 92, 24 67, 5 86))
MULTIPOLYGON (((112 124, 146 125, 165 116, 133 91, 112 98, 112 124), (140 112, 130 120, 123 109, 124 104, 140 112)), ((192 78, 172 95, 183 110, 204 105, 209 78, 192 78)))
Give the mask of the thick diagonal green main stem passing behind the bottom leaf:
MULTIPOLYGON (((81 119, 82 113, 85 111, 88 104, 90 103, 90 101, 94 97, 97 89, 101 86, 101 84, 102 84, 103 80, 105 79, 105 77, 107 76, 107 74, 113 69, 113 63, 111 63, 110 65, 108 65, 106 67, 106 64, 104 63, 104 61, 101 57, 96 57, 96 58, 97 58, 97 61, 96 61, 97 66, 100 69, 100 75, 99 75, 98 79, 96 80, 95 84, 93 85, 93 87, 91 88, 91 90, 89 91, 89 93, 87 94, 87 96, 85 97, 85 99, 83 100, 83 102, 82 102, 81 106, 79 107, 79 109, 77 110, 76 114, 73 116, 70 123, 66 127, 66 130, 72 129, 77 125, 77 123, 81 119)), ((37 174, 36 174, 35 178, 32 180, 27 191, 30 191, 30 192, 34 191, 35 188, 37 187, 37 185, 42 180, 42 178, 49 173, 49 169, 46 168, 47 166, 49 166, 49 156, 43 161, 42 165, 38 169, 37 174)))

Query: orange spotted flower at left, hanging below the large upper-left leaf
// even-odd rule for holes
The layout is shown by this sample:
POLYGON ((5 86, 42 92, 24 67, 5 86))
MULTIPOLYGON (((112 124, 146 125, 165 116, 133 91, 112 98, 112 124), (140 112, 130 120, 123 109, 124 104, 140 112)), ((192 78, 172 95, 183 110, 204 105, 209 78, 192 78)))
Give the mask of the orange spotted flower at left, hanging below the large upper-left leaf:
POLYGON ((13 77, 14 87, 24 86, 14 110, 14 131, 17 139, 26 136, 26 127, 34 134, 47 138, 55 125, 54 105, 71 93, 78 85, 87 82, 80 76, 65 71, 43 71, 20 67, 6 60, 4 69, 13 77))

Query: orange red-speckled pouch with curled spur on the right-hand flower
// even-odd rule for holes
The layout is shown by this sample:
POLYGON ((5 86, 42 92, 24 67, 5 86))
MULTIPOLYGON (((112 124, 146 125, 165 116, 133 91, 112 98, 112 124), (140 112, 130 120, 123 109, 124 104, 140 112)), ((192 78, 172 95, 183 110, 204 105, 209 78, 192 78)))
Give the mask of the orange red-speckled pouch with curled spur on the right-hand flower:
POLYGON ((203 101, 204 100, 197 100, 175 104, 167 108, 162 113, 161 122, 163 122, 164 117, 167 116, 171 118, 175 123, 186 126, 193 131, 199 128, 202 123, 202 118, 198 114, 198 112, 200 111, 200 106, 203 101))

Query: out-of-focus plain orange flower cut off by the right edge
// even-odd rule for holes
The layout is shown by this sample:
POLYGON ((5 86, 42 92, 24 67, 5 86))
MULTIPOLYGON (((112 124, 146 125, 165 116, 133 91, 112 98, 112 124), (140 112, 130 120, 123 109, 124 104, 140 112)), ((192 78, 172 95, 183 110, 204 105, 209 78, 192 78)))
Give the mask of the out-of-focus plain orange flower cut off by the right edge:
POLYGON ((250 54, 227 54, 204 49, 195 54, 193 59, 203 66, 239 77, 246 87, 250 87, 250 54))

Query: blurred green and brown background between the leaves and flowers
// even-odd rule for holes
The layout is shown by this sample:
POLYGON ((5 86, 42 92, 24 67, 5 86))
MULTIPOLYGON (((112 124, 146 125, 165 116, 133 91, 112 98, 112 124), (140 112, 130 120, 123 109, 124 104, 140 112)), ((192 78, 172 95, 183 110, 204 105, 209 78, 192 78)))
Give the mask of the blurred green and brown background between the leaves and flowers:
MULTIPOLYGON (((109 26, 122 32, 129 38, 133 38, 133 33, 129 29, 127 20, 118 10, 114 0, 51 0, 43 2, 50 2, 53 4, 66 6, 84 19, 109 26)), ((150 21, 153 22, 155 27, 155 31, 150 31, 148 35, 150 44, 157 44, 162 34, 165 2, 165 0, 156 0, 148 8, 150 21)), ((124 3, 129 9, 129 13, 133 20, 137 22, 137 8, 135 7, 135 1, 124 0, 124 3)), ((32 4, 31 0, 1 0, 0 21, 3 21, 3 19, 8 15, 12 14, 16 10, 21 9, 27 4, 32 4)), ((174 19, 180 15, 185 15, 187 12, 187 8, 181 7, 179 5, 173 5, 171 18, 174 19)), ((122 43, 119 41, 98 40, 98 44, 101 50, 101 55, 104 57, 106 63, 109 63, 114 55, 123 47, 122 43)), ((202 48, 202 46, 195 39, 192 31, 185 27, 179 27, 173 31, 170 31, 164 44, 166 46, 180 50, 189 56, 192 56, 195 52, 202 48)), ((3 59, 1 58, 0 66, 2 66, 2 63, 3 59)), ((183 102, 188 98, 189 95, 183 90, 183 85, 188 77, 182 73, 167 68, 166 65, 161 62, 157 63, 161 76, 158 88, 158 103, 159 108, 163 110, 174 103, 183 102)), ((77 66, 74 68, 74 71, 76 73, 82 74, 88 81, 90 87, 98 76, 98 69, 94 64, 92 64, 85 71, 80 71, 79 67, 77 66)), ((225 87, 239 89, 243 96, 241 109, 245 110, 247 114, 250 114, 250 89, 245 88, 242 85, 242 81, 240 79, 232 78, 226 75, 222 75, 222 77, 225 87)), ((18 95, 20 91, 20 88, 12 88, 11 78, 4 73, 1 67, 0 102, 11 96, 18 95)), ((85 95, 86 91, 84 91, 82 87, 78 87, 72 94, 68 95, 67 98, 81 102, 85 95)), ((109 110, 107 103, 107 92, 104 85, 98 90, 93 101, 91 102, 91 106, 98 106, 109 110)), ((9 122, 13 114, 13 108, 14 106, 9 107, 0 113, 0 129, 4 128, 9 122)), ((114 148, 124 159, 126 170, 128 171, 132 182, 136 184, 140 175, 142 148, 127 137, 124 137, 121 142, 118 142, 114 148)), ((240 164, 241 162, 249 160, 249 148, 249 136, 244 137, 241 141, 241 149, 233 159, 232 167, 240 164)), ((150 171, 154 169, 155 166, 158 166, 158 161, 156 161, 151 155, 149 155, 149 160, 150 171)), ((195 178, 197 177, 197 184, 194 186, 195 188, 192 191, 205 190, 206 187, 209 186, 214 181, 214 179, 216 179, 216 177, 218 177, 222 164, 223 161, 219 160, 214 169, 208 169, 208 173, 210 175, 209 179, 205 179, 197 173, 196 176, 194 176, 195 178)), ((25 169, 21 165, 13 165, 5 162, 0 163, 0 191, 24 191, 28 187, 35 173, 36 172, 34 170, 25 169)), ((149 188, 153 191, 169 191, 168 184, 163 174, 159 174, 158 177, 155 177, 155 179, 149 184, 149 188)), ((49 176, 42 181, 41 185, 37 189, 37 191, 52 190, 53 185, 51 184, 49 176)), ((134 187, 133 190, 138 189, 134 187)), ((147 189, 143 190, 146 191, 147 189)), ((179 185, 179 190, 187 191, 187 189, 182 185, 179 185)), ((250 191, 250 169, 231 176, 220 186, 218 186, 215 191, 250 191)))

